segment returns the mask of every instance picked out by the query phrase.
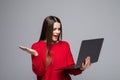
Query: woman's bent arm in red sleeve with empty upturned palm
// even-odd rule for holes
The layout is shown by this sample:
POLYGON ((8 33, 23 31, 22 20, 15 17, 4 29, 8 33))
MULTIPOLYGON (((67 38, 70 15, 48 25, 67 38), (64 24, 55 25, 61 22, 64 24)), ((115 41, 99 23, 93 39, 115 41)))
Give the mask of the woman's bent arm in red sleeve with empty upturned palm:
POLYGON ((33 72, 38 76, 44 75, 45 66, 43 63, 43 59, 41 58, 40 54, 37 52, 37 46, 32 45, 32 48, 19 46, 19 48, 22 49, 23 51, 26 51, 27 53, 31 54, 33 72))

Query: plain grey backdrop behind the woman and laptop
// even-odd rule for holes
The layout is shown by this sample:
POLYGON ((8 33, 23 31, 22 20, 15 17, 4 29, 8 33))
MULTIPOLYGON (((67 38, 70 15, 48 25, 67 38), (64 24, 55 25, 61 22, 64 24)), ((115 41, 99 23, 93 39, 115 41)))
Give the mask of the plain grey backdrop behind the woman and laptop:
POLYGON ((61 19, 75 61, 83 39, 105 38, 99 62, 73 80, 120 80, 120 0, 0 0, 0 80, 35 80, 18 46, 39 39, 48 15, 61 19))

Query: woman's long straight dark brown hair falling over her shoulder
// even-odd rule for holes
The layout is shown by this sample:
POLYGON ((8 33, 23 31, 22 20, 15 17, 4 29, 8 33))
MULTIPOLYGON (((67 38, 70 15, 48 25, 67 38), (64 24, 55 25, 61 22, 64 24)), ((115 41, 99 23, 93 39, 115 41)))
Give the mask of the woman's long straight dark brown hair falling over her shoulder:
POLYGON ((50 45, 52 43, 52 34, 53 34, 53 26, 54 26, 54 23, 55 22, 58 22, 60 23, 60 35, 58 37, 58 40, 59 38, 62 40, 62 23, 60 21, 60 19, 56 16, 47 16, 44 21, 43 21, 43 25, 42 25, 42 30, 41 30, 41 35, 40 35, 40 38, 39 38, 39 41, 41 40, 46 40, 46 53, 47 55, 49 55, 50 53, 50 45))

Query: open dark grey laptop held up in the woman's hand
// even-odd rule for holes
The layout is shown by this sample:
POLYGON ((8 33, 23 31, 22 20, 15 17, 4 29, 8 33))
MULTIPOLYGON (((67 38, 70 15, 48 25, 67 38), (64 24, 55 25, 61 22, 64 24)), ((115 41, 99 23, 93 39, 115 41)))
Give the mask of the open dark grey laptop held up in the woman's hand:
POLYGON ((81 42, 78 59, 75 65, 66 66, 62 69, 78 69, 82 67, 82 63, 87 56, 91 58, 91 64, 98 62, 100 51, 104 38, 88 39, 81 42))

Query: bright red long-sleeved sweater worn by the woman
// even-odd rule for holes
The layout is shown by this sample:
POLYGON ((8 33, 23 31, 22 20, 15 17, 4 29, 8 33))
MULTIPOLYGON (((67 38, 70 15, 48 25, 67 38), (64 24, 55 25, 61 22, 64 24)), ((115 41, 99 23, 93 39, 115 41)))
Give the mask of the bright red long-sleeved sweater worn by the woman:
POLYGON ((74 64, 70 46, 65 41, 51 45, 52 62, 48 67, 45 66, 46 43, 44 41, 36 42, 32 45, 32 49, 38 52, 38 56, 32 56, 32 69, 37 75, 37 80, 71 80, 69 74, 78 75, 82 72, 80 69, 60 69, 74 64))

